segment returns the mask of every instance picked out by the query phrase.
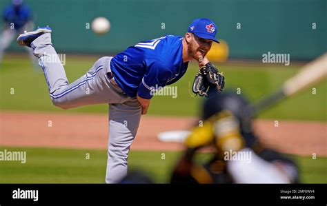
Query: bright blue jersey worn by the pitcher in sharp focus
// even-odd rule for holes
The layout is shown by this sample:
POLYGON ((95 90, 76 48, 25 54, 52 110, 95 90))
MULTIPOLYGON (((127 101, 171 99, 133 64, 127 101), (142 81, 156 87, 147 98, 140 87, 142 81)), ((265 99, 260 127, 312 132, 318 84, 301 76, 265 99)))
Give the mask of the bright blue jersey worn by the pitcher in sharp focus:
POLYGON ((175 83, 188 68, 183 62, 182 37, 167 35, 137 43, 110 62, 112 74, 130 97, 151 99, 155 90, 175 83))

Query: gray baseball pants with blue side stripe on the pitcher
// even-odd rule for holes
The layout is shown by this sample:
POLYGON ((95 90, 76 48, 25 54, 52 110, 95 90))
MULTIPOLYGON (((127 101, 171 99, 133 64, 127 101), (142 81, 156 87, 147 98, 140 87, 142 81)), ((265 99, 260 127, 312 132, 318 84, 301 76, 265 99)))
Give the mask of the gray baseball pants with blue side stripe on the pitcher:
POLYGON ((34 55, 39 57, 54 105, 66 110, 83 105, 109 104, 106 183, 119 183, 127 174, 128 152, 139 127, 141 105, 108 79, 106 74, 111 72, 112 57, 98 59, 86 74, 69 84, 63 65, 52 47, 50 33, 35 39, 32 48, 34 55))

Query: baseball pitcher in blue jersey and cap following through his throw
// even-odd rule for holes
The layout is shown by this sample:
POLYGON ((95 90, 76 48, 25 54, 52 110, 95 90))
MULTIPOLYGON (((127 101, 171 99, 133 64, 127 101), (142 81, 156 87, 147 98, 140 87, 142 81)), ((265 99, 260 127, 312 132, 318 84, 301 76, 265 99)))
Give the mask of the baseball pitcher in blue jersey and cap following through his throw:
POLYGON ((52 103, 69 109, 82 105, 108 103, 109 141, 106 183, 119 183, 127 174, 128 152, 134 140, 141 114, 146 114, 156 88, 178 81, 188 62, 199 63, 193 92, 201 96, 210 87, 224 89, 224 76, 206 59, 217 26, 210 19, 195 19, 184 37, 167 35, 143 41, 114 57, 97 60, 92 68, 73 83, 68 83, 60 61, 48 61, 57 55, 51 41, 52 30, 39 28, 21 34, 17 42, 34 50, 39 57, 52 103))

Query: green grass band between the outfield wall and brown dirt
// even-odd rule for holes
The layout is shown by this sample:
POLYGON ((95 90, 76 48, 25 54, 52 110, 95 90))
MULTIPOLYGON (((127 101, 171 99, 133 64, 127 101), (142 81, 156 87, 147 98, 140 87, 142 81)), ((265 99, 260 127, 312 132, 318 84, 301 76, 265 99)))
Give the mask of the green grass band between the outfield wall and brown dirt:
MULTIPOLYGON (((97 57, 66 56, 66 73, 73 81, 84 74, 97 57)), ((295 74, 299 66, 282 65, 228 65, 216 64, 226 76, 226 89, 246 94, 250 101, 257 101, 266 94, 275 91, 281 83, 295 74)), ((190 96, 189 83, 192 84, 197 66, 190 64, 185 76, 175 83, 177 98, 172 96, 155 96, 152 99, 149 113, 152 115, 197 116, 203 98, 190 96)), ((263 119, 296 119, 308 121, 326 121, 327 81, 280 103, 263 112, 263 119)), ((60 110, 52 105, 46 81, 41 72, 33 72, 28 56, 4 56, 0 68, 0 110, 50 111, 50 112, 94 112, 106 114, 108 105, 89 105, 72 110, 60 110), (10 94, 11 89, 14 94, 10 94)))

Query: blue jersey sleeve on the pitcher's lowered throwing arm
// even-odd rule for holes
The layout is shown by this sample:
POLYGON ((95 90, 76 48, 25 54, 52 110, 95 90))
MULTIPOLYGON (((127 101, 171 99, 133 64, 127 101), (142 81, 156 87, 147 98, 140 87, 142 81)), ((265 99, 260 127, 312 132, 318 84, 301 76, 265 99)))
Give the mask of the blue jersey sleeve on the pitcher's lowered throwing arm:
POLYGON ((158 59, 146 60, 148 68, 137 89, 137 94, 143 99, 151 99, 155 91, 166 86, 167 81, 172 78, 172 71, 158 59))

